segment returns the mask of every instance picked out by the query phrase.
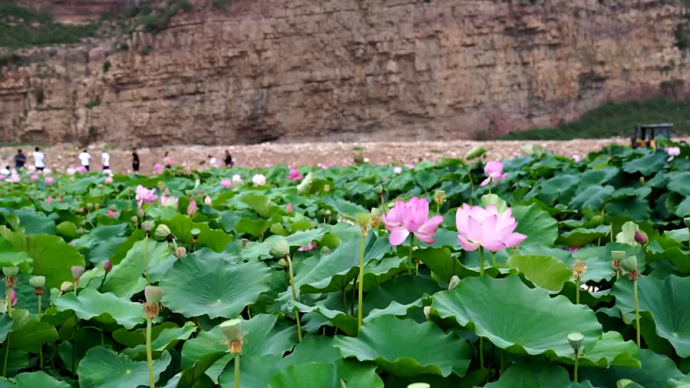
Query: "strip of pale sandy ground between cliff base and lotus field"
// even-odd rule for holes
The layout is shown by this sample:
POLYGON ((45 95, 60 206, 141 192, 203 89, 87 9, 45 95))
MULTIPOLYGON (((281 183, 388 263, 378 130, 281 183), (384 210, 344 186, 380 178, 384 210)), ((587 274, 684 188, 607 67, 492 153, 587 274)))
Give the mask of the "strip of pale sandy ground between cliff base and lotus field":
MULTIPOLYGON (((173 157, 174 165, 187 170, 203 169, 209 165, 209 155, 218 158, 222 164, 225 150, 230 151, 235 166, 264 167, 287 163, 290 165, 329 165, 352 164, 354 158, 361 154, 371 163, 383 164, 416 164, 421 160, 440 160, 443 158, 463 158, 475 146, 481 145, 489 150, 490 159, 506 159, 522 155, 520 146, 536 144, 542 149, 558 155, 571 157, 585 156, 592 151, 600 150, 610 144, 629 145, 630 139, 613 138, 599 140, 571 141, 454 141, 454 142, 411 142, 411 143, 304 143, 282 144, 267 143, 260 145, 239 145, 227 147, 207 146, 171 146, 164 148, 142 148, 137 152, 141 159, 141 172, 150 174, 156 163, 163 163, 166 151, 173 157), (202 164, 203 163, 203 164, 202 164)), ((0 160, 4 165, 10 163, 18 147, 0 148, 0 160)), ((108 149, 105 145, 92 145, 88 152, 93 157, 92 169, 101 168, 101 152, 106 148, 110 153, 110 167, 113 171, 126 173, 132 169, 131 151, 108 149)), ((31 155, 33 147, 24 146, 25 154, 31 155)), ((58 145, 42 149, 47 156, 48 167, 64 171, 67 167, 79 166, 77 156, 82 151, 69 145, 58 145)), ((29 157, 29 163, 33 158, 29 157)))

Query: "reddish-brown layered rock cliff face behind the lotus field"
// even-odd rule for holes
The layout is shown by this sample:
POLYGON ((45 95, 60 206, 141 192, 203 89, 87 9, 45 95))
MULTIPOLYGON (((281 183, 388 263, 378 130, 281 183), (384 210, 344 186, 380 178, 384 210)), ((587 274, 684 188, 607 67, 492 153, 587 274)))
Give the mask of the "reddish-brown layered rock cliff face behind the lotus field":
POLYGON ((471 138, 690 80, 682 1, 203 2, 155 34, 22 52, 0 70, 2 139, 471 138))

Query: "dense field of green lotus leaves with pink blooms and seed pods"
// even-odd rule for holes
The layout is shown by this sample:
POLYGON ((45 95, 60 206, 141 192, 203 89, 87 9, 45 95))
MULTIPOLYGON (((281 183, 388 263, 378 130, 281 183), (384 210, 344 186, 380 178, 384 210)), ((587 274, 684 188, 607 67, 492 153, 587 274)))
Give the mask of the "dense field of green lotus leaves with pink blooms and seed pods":
POLYGON ((690 148, 524 151, 5 177, 0 388, 690 386, 690 148))

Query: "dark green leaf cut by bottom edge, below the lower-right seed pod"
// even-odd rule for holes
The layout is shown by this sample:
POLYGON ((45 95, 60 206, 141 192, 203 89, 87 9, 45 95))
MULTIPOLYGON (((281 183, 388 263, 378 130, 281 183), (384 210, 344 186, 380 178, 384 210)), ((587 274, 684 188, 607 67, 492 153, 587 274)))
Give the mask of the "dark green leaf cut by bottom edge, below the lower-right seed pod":
POLYGON ((563 367, 553 363, 520 363, 508 368, 486 388, 593 388, 589 382, 573 383, 563 367))

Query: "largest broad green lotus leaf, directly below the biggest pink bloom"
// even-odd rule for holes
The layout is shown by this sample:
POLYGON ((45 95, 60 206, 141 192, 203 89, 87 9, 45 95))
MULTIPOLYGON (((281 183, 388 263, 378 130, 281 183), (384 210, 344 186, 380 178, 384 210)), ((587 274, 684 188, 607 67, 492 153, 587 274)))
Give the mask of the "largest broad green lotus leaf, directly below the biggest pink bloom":
POLYGON ((573 305, 563 296, 551 298, 517 276, 463 279, 454 291, 434 295, 432 310, 511 353, 570 357, 569 333, 585 336, 585 351, 603 334, 587 306, 573 305))

